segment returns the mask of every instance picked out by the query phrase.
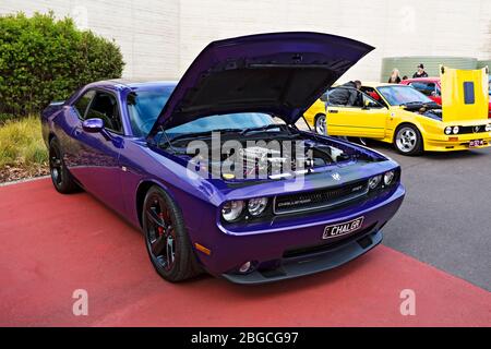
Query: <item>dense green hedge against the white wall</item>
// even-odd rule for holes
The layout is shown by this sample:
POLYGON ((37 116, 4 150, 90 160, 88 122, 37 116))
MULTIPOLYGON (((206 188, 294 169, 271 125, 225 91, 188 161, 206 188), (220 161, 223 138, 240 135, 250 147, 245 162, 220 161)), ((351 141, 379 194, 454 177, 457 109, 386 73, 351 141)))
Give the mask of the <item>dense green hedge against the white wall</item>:
POLYGON ((52 13, 0 16, 0 113, 26 116, 94 81, 120 77, 119 47, 52 13))

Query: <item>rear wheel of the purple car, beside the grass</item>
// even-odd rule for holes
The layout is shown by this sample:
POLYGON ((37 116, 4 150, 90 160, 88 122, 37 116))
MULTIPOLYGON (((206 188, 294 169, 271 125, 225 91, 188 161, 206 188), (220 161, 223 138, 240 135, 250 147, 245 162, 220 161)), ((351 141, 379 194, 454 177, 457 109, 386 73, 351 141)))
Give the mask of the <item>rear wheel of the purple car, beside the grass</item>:
POLYGON ((55 137, 49 142, 49 173, 55 189, 62 194, 80 191, 63 160, 60 143, 55 137))

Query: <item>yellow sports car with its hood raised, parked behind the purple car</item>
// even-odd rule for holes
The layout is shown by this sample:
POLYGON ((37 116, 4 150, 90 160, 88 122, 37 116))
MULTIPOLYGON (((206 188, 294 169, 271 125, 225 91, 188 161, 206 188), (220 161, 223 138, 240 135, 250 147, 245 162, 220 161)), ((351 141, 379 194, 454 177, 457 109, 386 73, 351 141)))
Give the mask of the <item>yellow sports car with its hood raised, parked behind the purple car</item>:
POLYGON ((441 82, 442 106, 405 85, 364 84, 356 106, 330 105, 330 91, 326 133, 392 143, 404 155, 490 146, 488 70, 442 67, 441 82))

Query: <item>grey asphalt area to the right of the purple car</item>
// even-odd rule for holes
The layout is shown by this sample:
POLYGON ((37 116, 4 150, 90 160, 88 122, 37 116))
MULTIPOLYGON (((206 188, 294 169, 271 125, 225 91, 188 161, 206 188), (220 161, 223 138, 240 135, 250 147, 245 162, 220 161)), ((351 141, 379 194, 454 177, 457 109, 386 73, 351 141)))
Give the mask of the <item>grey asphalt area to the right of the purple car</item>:
POLYGON ((491 148, 399 155, 406 200, 384 228, 384 244, 491 291, 491 148))

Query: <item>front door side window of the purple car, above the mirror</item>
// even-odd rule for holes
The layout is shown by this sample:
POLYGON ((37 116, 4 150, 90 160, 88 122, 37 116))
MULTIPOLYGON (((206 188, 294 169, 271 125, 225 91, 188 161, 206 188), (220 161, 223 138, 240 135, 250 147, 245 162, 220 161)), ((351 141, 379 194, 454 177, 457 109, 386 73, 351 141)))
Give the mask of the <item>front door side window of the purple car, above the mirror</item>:
POLYGON ((116 97, 109 93, 97 92, 85 119, 103 119, 104 127, 117 133, 122 133, 121 117, 116 97))

